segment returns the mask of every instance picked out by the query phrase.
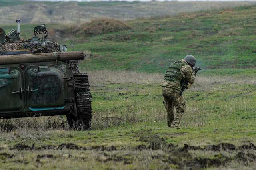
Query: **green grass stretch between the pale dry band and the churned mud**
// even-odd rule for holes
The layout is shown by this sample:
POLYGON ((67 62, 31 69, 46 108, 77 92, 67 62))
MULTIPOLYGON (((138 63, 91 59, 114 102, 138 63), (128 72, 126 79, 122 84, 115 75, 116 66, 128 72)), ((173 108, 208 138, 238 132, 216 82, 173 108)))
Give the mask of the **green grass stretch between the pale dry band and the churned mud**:
MULTIPOLYGON (((102 73, 106 74, 104 71, 102 73)), ((115 138, 113 136, 118 136, 121 131, 122 134, 127 135, 122 135, 117 140, 122 143, 120 146, 129 145, 131 142, 132 145, 136 145, 140 142, 129 140, 129 135, 140 129, 152 129, 154 134, 160 134, 167 138, 168 142, 180 146, 220 142, 241 144, 247 140, 251 142, 256 140, 254 126, 256 87, 250 83, 250 78, 232 77, 232 82, 229 82, 225 77, 218 76, 208 78, 212 79, 209 82, 206 77, 198 77, 195 86, 184 93, 187 111, 182 118, 181 129, 177 130, 166 125, 166 111, 162 104, 162 88, 159 83, 107 83, 106 77, 104 78, 106 83, 102 84, 95 83, 99 78, 95 73, 90 72, 90 75, 93 79, 91 83, 93 131, 64 132, 71 133, 73 138, 66 136, 57 140, 58 136, 52 136, 41 141, 40 144, 60 144, 73 140, 81 146, 100 144, 109 146, 115 138), (170 137, 170 134, 177 132, 184 135, 170 137), (88 135, 81 136, 87 133, 88 135), (95 136, 98 136, 98 139, 95 140, 95 136), (83 143, 88 138, 91 139, 83 143)), ((129 81, 130 75, 125 79, 129 81)), ((12 141, 1 140, 2 145, 21 142, 20 137, 12 141)), ((37 140, 32 138, 30 143, 37 143, 37 140)), ((26 138, 24 141, 28 142, 26 138)))

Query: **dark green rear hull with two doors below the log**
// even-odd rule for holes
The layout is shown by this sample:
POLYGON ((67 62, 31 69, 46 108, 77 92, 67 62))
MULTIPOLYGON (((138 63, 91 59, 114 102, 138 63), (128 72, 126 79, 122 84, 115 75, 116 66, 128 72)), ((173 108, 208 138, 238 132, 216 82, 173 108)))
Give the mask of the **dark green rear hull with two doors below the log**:
POLYGON ((65 61, 0 65, 0 118, 70 113, 76 69, 65 61))

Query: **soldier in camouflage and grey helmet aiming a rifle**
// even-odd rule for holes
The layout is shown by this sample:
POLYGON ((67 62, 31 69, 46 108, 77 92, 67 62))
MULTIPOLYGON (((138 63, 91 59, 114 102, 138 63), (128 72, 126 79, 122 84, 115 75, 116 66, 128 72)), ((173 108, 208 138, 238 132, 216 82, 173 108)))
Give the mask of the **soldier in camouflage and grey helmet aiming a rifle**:
POLYGON ((185 99, 182 96, 184 87, 182 86, 194 83, 196 73, 192 68, 195 65, 196 58, 193 55, 187 55, 184 59, 172 63, 164 75, 161 86, 168 127, 180 127, 180 119, 186 110, 185 99), (176 113, 174 113, 174 107, 176 113))

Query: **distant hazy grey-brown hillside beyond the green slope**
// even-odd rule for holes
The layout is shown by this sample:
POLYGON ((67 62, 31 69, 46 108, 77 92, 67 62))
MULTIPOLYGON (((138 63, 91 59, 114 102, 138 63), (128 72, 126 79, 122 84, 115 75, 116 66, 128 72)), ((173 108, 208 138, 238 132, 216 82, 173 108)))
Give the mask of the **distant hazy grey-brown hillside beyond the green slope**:
POLYGON ((206 9, 245 6, 254 2, 38 2, 0 0, 0 24, 81 23, 95 18, 130 20, 150 16, 176 15, 206 9), (28 12, 29 11, 29 12, 28 12))

